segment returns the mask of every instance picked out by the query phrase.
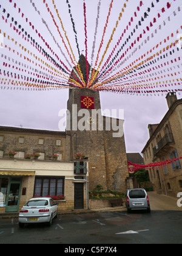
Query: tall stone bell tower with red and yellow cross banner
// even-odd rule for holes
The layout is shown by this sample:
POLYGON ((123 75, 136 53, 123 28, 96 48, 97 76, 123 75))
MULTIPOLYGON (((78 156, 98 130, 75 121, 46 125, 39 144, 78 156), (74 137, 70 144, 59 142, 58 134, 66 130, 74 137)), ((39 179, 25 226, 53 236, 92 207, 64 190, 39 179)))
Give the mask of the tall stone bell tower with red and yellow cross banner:
MULTIPOLYGON (((78 63, 86 81, 90 65, 86 67, 84 55, 78 63)), ((106 130, 106 117, 101 116, 99 91, 70 88, 67 110, 66 133, 70 136, 70 157, 74 159, 74 155, 79 153, 89 158, 89 190, 100 184, 104 190, 125 193, 129 174, 124 135, 114 138, 113 130, 106 130)))

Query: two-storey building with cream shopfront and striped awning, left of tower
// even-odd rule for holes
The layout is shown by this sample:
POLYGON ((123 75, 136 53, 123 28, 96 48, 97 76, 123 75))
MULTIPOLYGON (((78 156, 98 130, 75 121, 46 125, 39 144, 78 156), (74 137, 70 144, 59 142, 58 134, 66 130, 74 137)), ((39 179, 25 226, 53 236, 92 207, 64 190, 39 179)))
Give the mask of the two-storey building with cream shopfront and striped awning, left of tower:
POLYGON ((66 144, 65 132, 0 127, 0 212, 18 212, 33 196, 49 195, 63 196, 60 211, 87 208, 87 160, 70 160, 66 144))

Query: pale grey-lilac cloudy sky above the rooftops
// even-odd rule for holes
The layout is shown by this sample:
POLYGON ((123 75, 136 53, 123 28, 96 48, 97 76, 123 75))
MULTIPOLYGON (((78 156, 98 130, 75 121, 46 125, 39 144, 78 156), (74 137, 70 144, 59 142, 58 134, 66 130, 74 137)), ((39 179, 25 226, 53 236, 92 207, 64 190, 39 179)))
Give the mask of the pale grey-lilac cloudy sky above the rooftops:
MULTIPOLYGON (((78 55, 78 48, 76 46, 75 41, 75 33, 73 32, 73 24, 70 21, 70 13, 68 10, 68 5, 66 3, 66 0, 55 0, 56 8, 58 8, 59 16, 61 17, 62 24, 64 26, 65 31, 67 32, 67 37, 69 38, 70 45, 72 46, 73 53, 75 55, 76 61, 79 59, 78 55)), ((85 44, 85 34, 84 34, 84 11, 83 11, 83 0, 69 0, 70 4, 70 10, 71 14, 74 20, 75 29, 76 29, 76 36, 78 38, 78 45, 79 50, 83 52, 83 54, 86 54, 86 44, 85 44)), ((86 0, 86 17, 87 17, 87 57, 89 63, 92 62, 92 53, 93 53, 93 41, 94 41, 94 35, 95 35, 95 28, 96 28, 96 17, 98 15, 98 0, 86 0)), ((93 57, 93 66, 96 60, 96 56, 98 53, 98 49, 101 43, 101 38, 103 36, 103 30, 104 26, 106 25, 107 15, 109 11, 109 5, 110 0, 101 0, 101 5, 99 6, 99 18, 98 18, 98 27, 97 27, 97 33, 96 33, 96 40, 95 40, 95 48, 94 48, 94 57, 93 57)), ((130 35, 131 31, 136 28, 136 24, 138 24, 138 20, 141 20, 141 16, 144 15, 144 12, 146 12, 147 8, 150 7, 150 12, 148 12, 149 17, 143 21, 142 26, 140 26, 140 32, 143 32, 143 29, 146 30, 146 26, 150 25, 150 21, 153 22, 153 18, 157 18, 158 13, 161 14, 161 17, 157 19, 156 23, 153 23, 152 28, 150 27, 150 31, 146 34, 143 34, 143 38, 139 43, 136 43, 136 52, 133 52, 135 48, 132 48, 129 53, 127 53, 126 56, 129 56, 129 59, 126 60, 126 62, 119 66, 118 69, 116 69, 116 72, 120 71, 121 68, 124 68, 125 66, 132 63, 134 60, 138 59, 141 55, 146 53, 147 51, 150 51, 154 46, 157 45, 157 43, 160 43, 160 41, 164 41, 164 38, 174 33, 174 38, 171 38, 172 41, 175 41, 177 38, 177 29, 181 26, 181 12, 182 12, 182 0, 174 1, 171 0, 170 4, 171 7, 167 9, 167 2, 160 0, 158 3, 156 0, 154 1, 143 1, 144 5, 140 7, 140 11, 136 9, 136 7, 140 6, 140 1, 130 0, 126 2, 126 8, 124 9, 123 16, 121 17, 120 23, 118 24, 118 27, 116 29, 116 33, 113 36, 112 42, 110 43, 109 48, 107 49, 106 56, 104 57, 104 61, 107 60, 107 57, 109 57, 109 54, 112 52, 113 47, 117 43, 118 39, 121 36, 121 33, 123 33, 123 30, 126 29, 126 26, 129 24, 130 18, 133 17, 132 26, 129 27, 129 30, 127 31, 125 37, 121 41, 121 45, 126 41, 126 38, 130 35), (155 5, 152 7, 152 2, 155 5), (162 13, 161 9, 165 7, 165 12, 162 13), (180 7, 180 9, 178 8, 180 7), (180 11, 181 10, 181 11, 180 11), (174 11, 177 15, 174 15, 174 11), (137 17, 133 15, 133 13, 137 13, 137 17), (165 26, 164 22, 165 21, 165 26), (158 27, 162 24, 162 27, 160 30, 158 30, 158 27), (157 29, 157 33, 155 33, 155 29, 157 29), (153 37, 151 36, 153 32, 153 37), (147 36, 150 36, 150 40, 147 40, 147 43, 143 43, 141 48, 139 49, 139 45, 141 45, 142 42, 147 38, 147 36)), ((1 4, 1 15, 4 15, 4 17, 7 17, 7 13, 10 14, 10 18, 14 18, 14 21, 17 21, 18 24, 21 24, 21 28, 24 27, 25 31, 27 31, 27 34, 30 34, 31 37, 35 38, 35 41, 38 41, 39 45, 42 46, 44 49, 46 49, 47 52, 50 53, 49 49, 45 47, 45 44, 43 41, 38 37, 38 35, 35 33, 35 29, 39 30, 42 37, 44 37, 45 41, 50 44, 53 51, 56 52, 56 54, 60 57, 62 62, 71 69, 72 62, 69 59, 69 55, 67 54, 66 48, 64 47, 64 44, 62 44, 61 37, 59 37, 58 30, 56 29, 55 24, 53 23, 52 16, 50 16, 50 13, 47 12, 47 8, 43 1, 30 1, 30 0, 19 0, 14 1, 12 0, 12 3, 10 3, 8 0, 0 0, 1 4), (33 4, 35 3, 35 5, 33 4), (16 8, 14 7, 14 4, 16 3, 16 8), (34 5, 34 6, 33 6, 34 5), (36 10, 35 10, 36 7, 36 10), (3 8, 5 9, 5 13, 2 12, 3 8), (20 11, 19 11, 19 9, 20 11), (38 13, 39 11, 39 13, 38 13), (20 12, 20 13, 19 13, 20 12), (22 13, 24 13, 24 18, 21 17, 22 13), (30 27, 29 23, 26 23, 25 17, 29 19, 29 22, 31 22, 35 29, 32 29, 30 27), (49 30, 45 26, 45 24, 42 23, 42 18, 47 24, 47 27, 49 27, 49 30), (50 32, 52 33, 53 37, 51 36, 50 32), (60 48, 62 49, 62 52, 64 56, 62 55, 62 52, 60 51, 60 48, 58 45, 55 45, 55 40, 59 44, 60 48), (67 60, 68 61, 67 61, 67 60)), ((53 16, 55 17, 55 20, 59 24, 59 31, 61 32, 62 37, 64 37, 64 32, 62 31, 61 24, 59 23, 58 17, 56 16, 55 9, 53 7, 52 1, 47 0, 48 7, 53 13, 53 16)), ((120 15, 120 12, 123 8, 124 1, 121 0, 113 0, 113 7, 110 12, 109 16, 109 22, 107 24, 106 34, 104 35, 103 40, 103 47, 101 48, 101 52, 99 53, 99 60, 101 60, 104 50, 106 50, 107 43, 109 41, 110 36, 112 35, 113 28, 115 27, 116 21, 118 20, 118 16, 120 15)), ((16 126, 16 127, 24 127, 24 128, 32 128, 32 129, 45 129, 45 130, 59 130, 58 123, 60 120, 60 117, 58 116, 59 110, 67 107, 67 100, 69 97, 69 91, 68 89, 61 89, 61 90, 35 90, 35 91, 28 91, 28 90, 22 90, 23 87, 20 86, 12 86, 12 90, 7 85, 3 86, 4 84, 1 84, 2 78, 5 78, 3 76, 3 71, 7 73, 13 72, 16 74, 23 74, 26 76, 31 76, 28 74, 28 71, 30 71, 30 66, 33 68, 37 68, 37 66, 31 63, 28 63, 27 60, 24 60, 22 57, 20 57, 20 54, 25 54, 25 52, 22 50, 22 46, 24 48, 27 48, 30 50, 30 52, 34 53, 35 55, 42 57, 41 54, 39 54, 38 51, 36 51, 33 46, 22 39, 22 35, 18 35, 16 33, 16 30, 13 29, 13 26, 10 27, 10 18, 7 19, 7 23, 5 23, 5 20, 1 18, 0 20, 0 29, 1 32, 6 33, 6 38, 4 38, 4 45, 7 44, 8 47, 11 48, 11 51, 5 48, 0 48, 0 68, 1 73, 0 74, 0 125, 1 126, 16 126), (10 35, 10 38, 14 38, 13 40, 7 40, 7 35, 10 35), (15 41, 18 43, 15 44, 15 41), (21 44, 21 47, 19 46, 21 44), (15 52, 12 52, 12 49, 15 49, 15 52), (17 54, 19 52, 19 55, 17 54), (5 57, 6 56, 6 57, 5 57), (8 59, 9 58, 9 59, 8 59), (13 62, 14 60, 14 62, 13 62), (15 65, 19 68, 20 65, 16 64, 15 61, 18 61, 21 63, 21 69, 24 69, 24 71, 19 71, 17 69, 12 69, 12 66, 15 65), (3 63, 7 63, 7 66, 5 67, 3 63), (23 65, 26 65, 22 67, 23 65), (10 68, 8 68, 8 65, 10 65, 10 68), (29 65, 29 67, 27 67, 29 65), (14 88, 16 87, 16 90, 14 88), (4 89, 5 88, 5 89, 4 89), (21 90, 20 90, 21 88, 21 90)), ((18 28, 18 26, 16 26, 18 28)), ((140 35, 140 32, 137 33, 137 35, 140 35)), ((182 33, 181 30, 179 30, 179 34, 182 33)), ((135 37, 133 37, 134 39, 135 37)), ((65 39, 65 37, 64 37, 65 39)), ((133 41, 133 40, 132 40, 133 41)), ((130 41, 130 43, 132 42, 130 41)), ((169 40, 169 43, 171 41, 169 40)), ((66 45, 68 46, 68 43, 66 41, 66 45)), ((130 45, 130 44, 129 44, 130 45)), ((166 47, 167 44, 164 45, 166 47)), ((120 49, 120 48, 119 48, 120 49)), ((127 48, 126 48, 127 49, 127 48)), ((161 49, 163 49, 163 44, 161 44, 161 49)), ((175 49, 175 48, 174 48, 175 49)), ((175 49, 176 50, 176 49, 175 49)), ((117 51, 116 51, 117 52, 117 51)), ((115 52, 115 53, 116 53, 115 52)), ((154 51, 156 52, 156 51, 154 51)), ((170 54, 168 55, 168 58, 160 60, 160 65, 164 62, 167 62, 167 60, 175 59, 178 56, 181 57, 181 52, 175 51, 175 55, 172 55, 170 57, 170 54)), ((27 52, 26 52, 27 55, 27 52)), ((28 56, 28 55, 27 55, 28 56)), ((114 56, 114 55, 113 55, 114 56)), ((54 56, 55 58, 55 56, 54 56)), ((56 59, 56 58, 55 58, 56 59)), ((45 60, 45 59, 44 59, 45 60)), ((58 61, 56 59, 56 61, 58 61)), ((104 62, 103 62, 104 63, 104 62)), ((101 65, 102 66, 102 65, 101 65)), ((169 69, 168 74, 174 73, 175 71, 181 72, 181 62, 173 63, 171 66, 171 69, 169 69), (177 65, 179 67, 177 67, 177 65), (174 68, 176 66, 176 68, 174 68)), ((170 67, 169 66, 169 67, 170 67)), ((116 66, 117 67, 117 66, 116 66)), ((160 70, 166 69, 164 67, 160 70)), ((45 70, 39 69, 42 72, 45 70)), ((155 70, 157 72, 158 70, 155 70)), ((164 71, 163 71, 164 72, 164 71)), ((49 73, 50 74, 50 73, 49 73)), ((158 74, 157 74, 158 76, 158 74)), ((32 76, 33 77, 33 76, 32 76)), ((155 76, 154 76, 155 77, 155 76)), ((153 77, 153 78, 154 78, 153 77)), ((160 76, 161 77, 161 76, 160 76)), ((181 75, 180 75, 181 77, 181 75)), ((168 78, 169 79, 169 78, 168 78)), ((17 80, 17 79, 14 79, 17 80)), ((164 79, 161 79, 163 81, 164 79)), ((166 78, 165 78, 166 80, 166 78)), ((174 88, 174 87, 170 87, 174 88)), ((178 87, 180 88, 180 87, 178 87)), ((177 93, 178 99, 182 98, 181 93, 177 93)), ((126 151, 127 152, 141 152, 144 148, 147 140, 149 139, 149 132, 147 129, 148 124, 153 123, 160 123, 163 116, 166 114, 168 107, 166 102, 166 94, 165 93, 149 93, 149 94, 133 94, 133 93, 109 93, 109 92, 101 92, 100 93, 101 98, 101 108, 105 110, 106 108, 109 109, 124 109, 124 136, 126 140, 126 151)))

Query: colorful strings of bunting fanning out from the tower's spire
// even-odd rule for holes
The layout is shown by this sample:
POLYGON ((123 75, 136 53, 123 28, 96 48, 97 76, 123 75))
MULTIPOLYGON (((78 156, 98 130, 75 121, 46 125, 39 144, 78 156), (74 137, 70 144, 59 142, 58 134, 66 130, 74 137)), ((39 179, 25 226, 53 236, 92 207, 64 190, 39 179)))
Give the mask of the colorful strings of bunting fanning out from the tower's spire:
POLYGON ((161 35, 167 23, 180 14, 181 5, 172 10, 174 1, 166 1, 165 4, 160 0, 148 3, 137 1, 135 11, 131 16, 126 17, 130 4, 130 1, 126 0, 117 3, 120 9, 118 16, 113 20, 116 2, 110 0, 104 16, 106 22, 101 27, 101 13, 103 15, 106 5, 98 0, 96 13, 92 13, 91 17, 92 20, 96 18, 92 37, 89 30, 88 0, 83 0, 83 9, 79 10, 83 18, 82 26, 73 19, 75 10, 73 12, 70 1, 66 0, 64 3, 68 8, 71 30, 64 18, 66 13, 62 13, 62 9, 56 6, 55 0, 52 0, 51 5, 46 0, 42 1, 49 19, 43 18, 43 12, 41 14, 35 2, 30 0, 35 15, 48 32, 46 34, 42 30, 41 33, 39 32, 38 24, 31 21, 32 17, 30 19, 30 16, 24 15, 23 5, 19 6, 19 3, 12 0, 8 2, 10 2, 8 11, 5 7, 7 5, 0 5, 4 24, 0 27, 0 40, 3 40, 0 41, 0 48, 6 51, 0 55, 1 90, 15 90, 15 88, 22 90, 23 87, 31 90, 89 88, 113 93, 154 96, 169 91, 181 91, 182 26, 178 26, 178 29, 173 31, 169 30, 165 38, 157 35, 161 35), (152 13, 155 15, 152 16, 152 13), (162 20, 164 16, 166 18, 162 20), (53 26, 48 20, 52 21, 53 26), (110 24, 113 24, 112 27, 109 27, 110 24), (79 33, 76 28, 79 29, 79 33), (99 31, 103 31, 101 37, 98 37, 99 31), (70 39, 71 32, 74 43, 70 39), (81 33, 83 40, 79 38, 81 33), (59 40, 55 34, 58 34, 59 40), (53 44, 50 43, 49 37, 52 38, 53 44), (93 42, 91 51, 90 38, 93 42), (148 43, 153 38, 155 43, 149 49, 148 43), (82 41, 85 48, 83 51, 85 51, 86 68, 77 61, 81 59, 79 46, 82 41), (136 56, 140 50, 141 54, 136 56))

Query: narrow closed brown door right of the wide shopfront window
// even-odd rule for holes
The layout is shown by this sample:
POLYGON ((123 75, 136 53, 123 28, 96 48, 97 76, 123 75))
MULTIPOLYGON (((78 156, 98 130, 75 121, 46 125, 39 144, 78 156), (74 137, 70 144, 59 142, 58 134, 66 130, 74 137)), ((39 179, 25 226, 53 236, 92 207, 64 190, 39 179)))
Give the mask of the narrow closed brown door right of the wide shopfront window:
POLYGON ((75 182, 74 189, 74 208, 83 209, 84 208, 84 183, 75 182))

